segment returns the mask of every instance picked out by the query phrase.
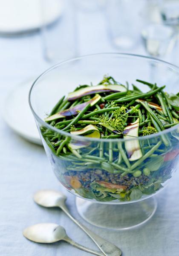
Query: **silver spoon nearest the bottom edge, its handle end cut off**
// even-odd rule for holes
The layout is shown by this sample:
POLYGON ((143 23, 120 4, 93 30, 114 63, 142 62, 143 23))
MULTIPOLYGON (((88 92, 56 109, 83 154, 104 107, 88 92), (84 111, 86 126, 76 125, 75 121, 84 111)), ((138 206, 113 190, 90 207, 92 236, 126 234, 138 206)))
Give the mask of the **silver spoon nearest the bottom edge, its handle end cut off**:
POLYGON ((80 250, 84 250, 97 256, 104 256, 103 253, 76 243, 66 235, 64 227, 61 227, 58 224, 54 223, 40 223, 27 227, 25 230, 23 230, 23 236, 33 242, 43 244, 50 244, 63 240, 68 242, 69 244, 72 244, 80 250))

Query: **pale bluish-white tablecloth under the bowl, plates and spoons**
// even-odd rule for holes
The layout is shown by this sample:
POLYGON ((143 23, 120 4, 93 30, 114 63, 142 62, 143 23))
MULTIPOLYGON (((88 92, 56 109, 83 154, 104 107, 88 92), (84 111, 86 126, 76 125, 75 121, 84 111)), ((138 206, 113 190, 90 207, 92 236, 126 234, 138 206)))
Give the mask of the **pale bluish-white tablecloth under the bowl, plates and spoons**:
MULTIPOLYGON (((98 13, 78 14, 81 54, 116 51, 111 48, 98 13), (92 38, 92 41, 90 41, 92 38)), ((176 47, 166 59, 179 64, 176 47), (176 58, 174 58, 176 56, 176 58)), ((145 54, 140 43, 133 50, 145 54)), ((40 35, 0 38, 0 107, 19 82, 49 67, 42 58, 40 35)), ((13 111, 13 109, 12 109, 13 111)), ((14 113, 18 114, 18 113, 14 113)), ((179 256, 179 172, 156 198, 153 218, 139 228, 106 231, 87 224, 75 209, 75 197, 58 183, 42 147, 23 140, 0 117, 0 256, 84 256, 90 255, 65 242, 35 244, 22 230, 39 222, 63 225, 67 234, 85 246, 97 249, 87 235, 59 209, 36 205, 32 195, 39 189, 63 190, 72 214, 87 227, 121 248, 124 256, 179 256)))

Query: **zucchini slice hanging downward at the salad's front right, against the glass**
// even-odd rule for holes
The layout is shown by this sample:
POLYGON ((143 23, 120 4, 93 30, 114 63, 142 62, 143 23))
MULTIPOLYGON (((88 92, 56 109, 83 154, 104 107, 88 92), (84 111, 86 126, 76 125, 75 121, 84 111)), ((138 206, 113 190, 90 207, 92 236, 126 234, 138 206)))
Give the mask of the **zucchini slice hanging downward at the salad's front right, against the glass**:
MULTIPOLYGON (((138 137, 138 131, 139 118, 135 122, 128 124, 124 128, 124 140, 132 139, 133 137, 138 137)), ((124 145, 130 161, 135 161, 142 157, 139 140, 126 140, 124 141, 124 145)))

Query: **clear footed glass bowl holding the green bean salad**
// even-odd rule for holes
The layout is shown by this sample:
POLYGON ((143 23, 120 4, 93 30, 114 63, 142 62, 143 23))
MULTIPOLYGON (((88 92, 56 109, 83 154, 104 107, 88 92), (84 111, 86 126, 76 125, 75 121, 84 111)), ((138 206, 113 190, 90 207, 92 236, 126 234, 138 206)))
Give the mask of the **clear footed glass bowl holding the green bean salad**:
MULTIPOLYGON (((122 84, 141 79, 166 85, 168 93, 177 93, 179 88, 179 68, 172 64, 139 55, 95 54, 45 71, 32 85, 29 104, 52 169, 61 184, 79 197, 76 204, 81 216, 98 227, 126 229, 151 218, 156 201, 150 197, 161 191, 176 171, 179 125, 124 140, 74 136, 44 122, 63 95, 79 84, 97 84, 105 74, 122 84), (63 146, 64 140, 75 150, 70 153, 63 148, 57 153, 54 147, 63 146), (141 152, 138 160, 130 157, 134 151, 141 152)), ((144 84, 138 87, 148 90, 144 84)))

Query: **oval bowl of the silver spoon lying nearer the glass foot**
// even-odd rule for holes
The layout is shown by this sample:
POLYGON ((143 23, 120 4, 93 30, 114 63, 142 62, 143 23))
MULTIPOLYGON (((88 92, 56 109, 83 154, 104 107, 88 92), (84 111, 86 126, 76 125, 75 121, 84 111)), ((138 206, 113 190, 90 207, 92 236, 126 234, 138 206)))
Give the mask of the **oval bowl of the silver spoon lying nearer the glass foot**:
POLYGON ((40 190, 35 193, 34 201, 43 207, 59 207, 65 203, 66 196, 55 190, 40 190))

